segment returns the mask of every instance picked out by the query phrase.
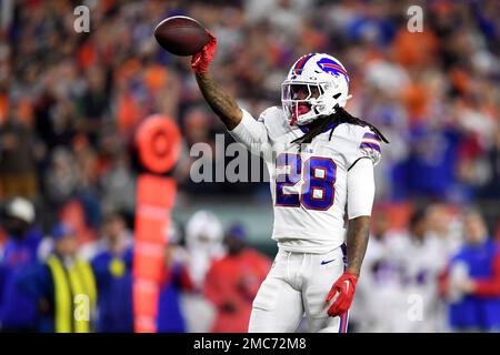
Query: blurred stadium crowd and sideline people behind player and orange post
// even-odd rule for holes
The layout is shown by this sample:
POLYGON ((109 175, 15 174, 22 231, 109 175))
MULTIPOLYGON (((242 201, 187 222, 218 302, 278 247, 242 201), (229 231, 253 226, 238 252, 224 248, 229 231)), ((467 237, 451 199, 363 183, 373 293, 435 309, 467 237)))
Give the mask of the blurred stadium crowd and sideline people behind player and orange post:
POLYGON ((350 332, 500 331, 500 3, 416 1, 423 31, 411 33, 412 4, 2 0, 0 331, 78 331, 57 318, 58 270, 73 280, 73 264, 96 296, 80 331, 132 331, 131 140, 152 113, 183 136, 158 331, 246 331, 276 253, 269 186, 190 179, 193 144, 212 146, 216 166, 231 160, 216 133, 233 140, 189 58, 152 37, 177 14, 214 33, 212 72, 253 115, 281 104, 300 55, 326 52, 350 73, 348 111, 390 140, 350 332), (73 29, 80 4, 89 32, 73 29))

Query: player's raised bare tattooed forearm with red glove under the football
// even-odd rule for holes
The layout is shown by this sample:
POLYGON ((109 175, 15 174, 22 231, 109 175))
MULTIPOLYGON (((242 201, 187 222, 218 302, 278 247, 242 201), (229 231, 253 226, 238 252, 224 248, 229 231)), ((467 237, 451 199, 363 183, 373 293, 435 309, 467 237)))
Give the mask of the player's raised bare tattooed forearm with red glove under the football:
POLYGON ((209 65, 216 53, 217 39, 209 32, 210 41, 203 49, 192 55, 191 69, 193 70, 198 87, 213 112, 222 120, 228 130, 233 130, 241 121, 243 112, 236 100, 231 98, 214 80, 209 72, 209 65))

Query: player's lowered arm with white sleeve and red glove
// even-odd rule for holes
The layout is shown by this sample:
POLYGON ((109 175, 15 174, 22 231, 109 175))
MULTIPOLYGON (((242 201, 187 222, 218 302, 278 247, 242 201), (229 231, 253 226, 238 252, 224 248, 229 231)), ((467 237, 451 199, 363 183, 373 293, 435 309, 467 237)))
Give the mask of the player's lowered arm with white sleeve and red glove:
POLYGON ((339 293, 339 296, 328 310, 330 316, 344 314, 354 298, 356 284, 368 246, 373 199, 373 161, 366 156, 358 160, 348 171, 348 265, 327 297, 327 302, 330 302, 339 293))

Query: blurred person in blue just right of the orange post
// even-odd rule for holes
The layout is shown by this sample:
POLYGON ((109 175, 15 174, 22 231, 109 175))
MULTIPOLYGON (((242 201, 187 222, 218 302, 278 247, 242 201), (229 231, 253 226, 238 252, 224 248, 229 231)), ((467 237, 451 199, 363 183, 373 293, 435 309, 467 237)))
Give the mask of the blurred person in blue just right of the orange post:
MULTIPOLYGON (((181 293, 193 290, 188 271, 188 255, 179 245, 179 235, 170 229, 164 248, 163 280, 158 304, 158 325, 160 333, 186 333, 186 320, 181 307, 181 293)), ((201 316, 201 315, 200 315, 201 316)))

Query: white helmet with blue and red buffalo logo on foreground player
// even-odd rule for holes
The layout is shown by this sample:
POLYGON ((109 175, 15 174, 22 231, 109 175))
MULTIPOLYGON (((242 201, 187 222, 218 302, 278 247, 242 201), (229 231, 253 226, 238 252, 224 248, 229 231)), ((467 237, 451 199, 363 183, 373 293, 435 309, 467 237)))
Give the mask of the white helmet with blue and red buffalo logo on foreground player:
POLYGON ((342 63, 324 53, 299 58, 281 84, 281 103, 290 124, 307 124, 333 114, 337 104, 351 98, 349 75, 342 63), (302 91, 300 95, 300 91, 302 91))

